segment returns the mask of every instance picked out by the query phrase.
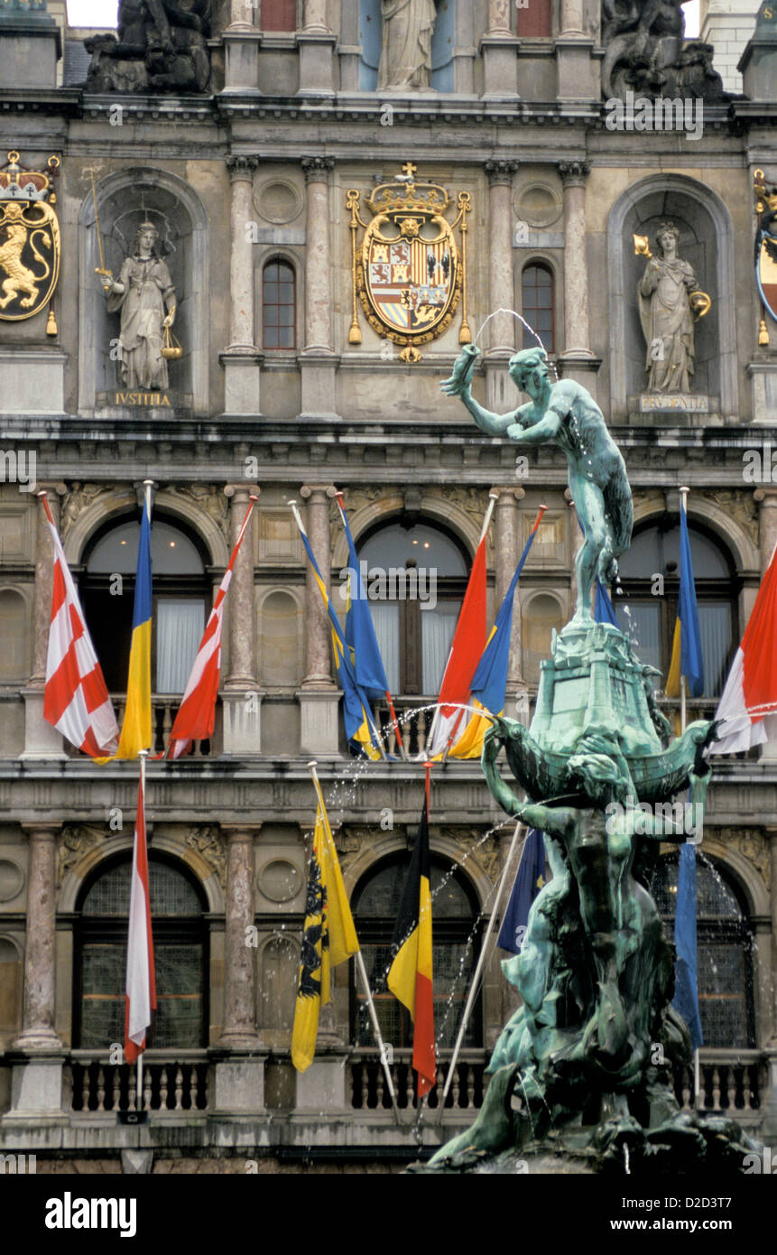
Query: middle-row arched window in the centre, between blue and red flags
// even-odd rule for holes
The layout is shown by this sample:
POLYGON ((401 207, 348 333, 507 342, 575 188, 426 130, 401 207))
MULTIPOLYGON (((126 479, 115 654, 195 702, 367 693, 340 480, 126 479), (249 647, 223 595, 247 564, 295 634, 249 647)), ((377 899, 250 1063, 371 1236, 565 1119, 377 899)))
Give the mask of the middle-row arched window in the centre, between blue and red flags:
POLYGON ((437 697, 467 587, 458 542, 432 523, 389 523, 359 545, 392 693, 437 697))

